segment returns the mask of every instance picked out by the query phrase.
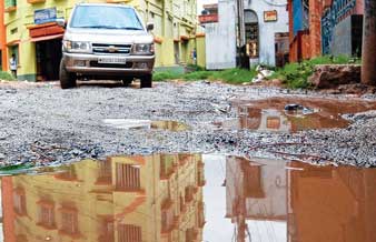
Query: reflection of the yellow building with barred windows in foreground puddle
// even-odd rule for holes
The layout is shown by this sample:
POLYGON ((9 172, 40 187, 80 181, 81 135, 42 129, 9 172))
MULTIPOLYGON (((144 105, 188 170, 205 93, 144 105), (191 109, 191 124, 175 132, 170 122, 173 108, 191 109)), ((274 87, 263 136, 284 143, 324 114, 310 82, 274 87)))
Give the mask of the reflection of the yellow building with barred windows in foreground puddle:
POLYGON ((201 155, 115 157, 3 178, 6 242, 192 242, 204 220, 201 155))

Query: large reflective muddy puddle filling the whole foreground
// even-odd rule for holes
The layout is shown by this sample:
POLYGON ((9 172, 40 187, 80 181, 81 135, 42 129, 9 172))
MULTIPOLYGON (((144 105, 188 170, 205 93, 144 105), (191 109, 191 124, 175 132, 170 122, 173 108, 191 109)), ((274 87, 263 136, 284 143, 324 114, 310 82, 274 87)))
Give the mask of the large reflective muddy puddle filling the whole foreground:
POLYGON ((376 241, 376 170, 201 154, 1 178, 0 241, 376 241))

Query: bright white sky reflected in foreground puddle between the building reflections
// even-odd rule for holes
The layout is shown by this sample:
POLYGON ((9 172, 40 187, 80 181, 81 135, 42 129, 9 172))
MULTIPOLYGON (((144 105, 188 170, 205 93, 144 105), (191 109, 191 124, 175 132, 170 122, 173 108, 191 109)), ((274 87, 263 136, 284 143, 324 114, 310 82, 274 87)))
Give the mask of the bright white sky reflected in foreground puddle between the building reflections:
MULTIPOLYGON (((234 228, 226 215, 226 157, 220 154, 202 155, 205 163, 204 203, 207 223, 204 226, 204 242, 231 242, 234 228)), ((251 241, 286 242, 287 223, 247 220, 251 241)), ((249 238, 248 238, 249 239, 249 238)))

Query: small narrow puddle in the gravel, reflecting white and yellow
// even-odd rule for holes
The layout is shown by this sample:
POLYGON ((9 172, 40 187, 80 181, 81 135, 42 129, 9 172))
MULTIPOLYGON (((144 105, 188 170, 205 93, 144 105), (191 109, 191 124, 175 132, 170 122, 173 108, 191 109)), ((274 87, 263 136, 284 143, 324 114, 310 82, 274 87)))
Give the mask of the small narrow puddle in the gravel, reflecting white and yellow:
POLYGON ((189 127, 178 121, 152 121, 138 119, 105 119, 103 123, 108 127, 126 130, 168 130, 168 131, 185 131, 189 127))

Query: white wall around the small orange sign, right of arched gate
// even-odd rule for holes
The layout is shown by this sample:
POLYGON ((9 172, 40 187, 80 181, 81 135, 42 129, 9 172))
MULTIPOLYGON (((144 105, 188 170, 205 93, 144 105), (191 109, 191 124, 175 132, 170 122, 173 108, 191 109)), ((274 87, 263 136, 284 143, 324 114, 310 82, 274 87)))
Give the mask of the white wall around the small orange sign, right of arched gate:
POLYGON ((287 1, 263 1, 246 0, 245 10, 254 10, 258 17, 259 24, 259 62, 270 65, 276 64, 275 53, 275 33, 288 32, 288 12, 286 10, 287 1), (278 20, 276 22, 265 22, 264 11, 277 11, 278 20))

